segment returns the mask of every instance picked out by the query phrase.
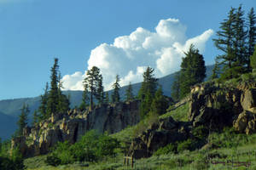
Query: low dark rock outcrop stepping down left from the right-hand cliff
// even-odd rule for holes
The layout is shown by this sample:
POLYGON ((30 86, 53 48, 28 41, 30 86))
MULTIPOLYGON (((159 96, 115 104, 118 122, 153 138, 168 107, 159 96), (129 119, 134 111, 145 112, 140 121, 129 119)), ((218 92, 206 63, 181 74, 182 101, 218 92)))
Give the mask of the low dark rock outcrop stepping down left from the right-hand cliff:
POLYGON ((160 120, 144 133, 133 139, 128 155, 136 159, 152 156, 155 150, 166 144, 187 139, 189 124, 175 122, 172 117, 160 120))

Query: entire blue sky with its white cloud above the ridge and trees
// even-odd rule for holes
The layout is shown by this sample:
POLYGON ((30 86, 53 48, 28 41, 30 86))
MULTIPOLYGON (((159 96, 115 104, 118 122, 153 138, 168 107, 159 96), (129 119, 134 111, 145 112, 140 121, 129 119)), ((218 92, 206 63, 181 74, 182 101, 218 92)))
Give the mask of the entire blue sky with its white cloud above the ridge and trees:
POLYGON ((191 43, 206 65, 230 7, 247 15, 255 0, 0 0, 0 99, 36 97, 59 59, 64 90, 83 89, 85 71, 102 71, 105 89, 179 70, 191 43))

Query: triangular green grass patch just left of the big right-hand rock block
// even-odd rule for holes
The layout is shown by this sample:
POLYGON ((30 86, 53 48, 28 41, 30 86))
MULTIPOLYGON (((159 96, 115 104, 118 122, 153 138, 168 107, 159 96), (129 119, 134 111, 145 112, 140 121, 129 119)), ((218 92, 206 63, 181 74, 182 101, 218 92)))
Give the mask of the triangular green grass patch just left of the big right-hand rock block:
POLYGON ((189 121, 188 113, 189 113, 189 102, 187 102, 185 105, 179 106, 174 111, 167 112, 166 114, 160 116, 160 118, 167 118, 169 116, 172 116, 172 118, 175 121, 188 122, 189 121))

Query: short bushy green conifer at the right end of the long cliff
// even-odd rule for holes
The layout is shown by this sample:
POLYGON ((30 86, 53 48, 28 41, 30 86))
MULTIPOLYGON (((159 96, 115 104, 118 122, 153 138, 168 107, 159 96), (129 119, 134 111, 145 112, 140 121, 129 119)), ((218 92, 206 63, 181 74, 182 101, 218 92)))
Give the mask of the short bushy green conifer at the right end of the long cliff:
POLYGON ((166 109, 168 108, 168 100, 163 95, 162 88, 158 88, 154 94, 154 99, 152 101, 150 111, 157 115, 162 115, 166 113, 166 109))

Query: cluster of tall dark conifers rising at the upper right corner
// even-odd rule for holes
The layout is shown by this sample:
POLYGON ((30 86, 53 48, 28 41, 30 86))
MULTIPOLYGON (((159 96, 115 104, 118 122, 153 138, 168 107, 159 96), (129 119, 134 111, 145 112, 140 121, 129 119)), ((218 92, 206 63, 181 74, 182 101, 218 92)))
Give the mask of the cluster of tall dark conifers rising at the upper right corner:
POLYGON ((220 78, 228 80, 239 77, 241 74, 252 71, 250 56, 253 55, 256 40, 256 17, 251 8, 247 17, 241 6, 230 8, 226 19, 220 23, 217 38, 213 42, 223 54, 216 57, 216 63, 212 78, 218 78, 219 66, 220 78))

